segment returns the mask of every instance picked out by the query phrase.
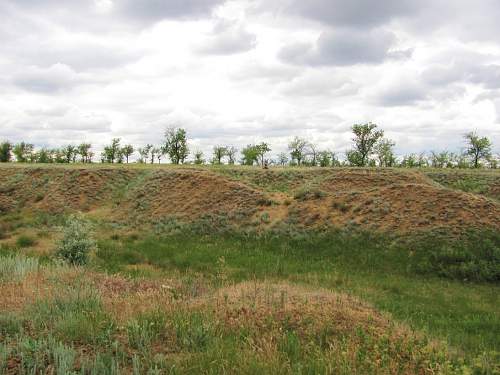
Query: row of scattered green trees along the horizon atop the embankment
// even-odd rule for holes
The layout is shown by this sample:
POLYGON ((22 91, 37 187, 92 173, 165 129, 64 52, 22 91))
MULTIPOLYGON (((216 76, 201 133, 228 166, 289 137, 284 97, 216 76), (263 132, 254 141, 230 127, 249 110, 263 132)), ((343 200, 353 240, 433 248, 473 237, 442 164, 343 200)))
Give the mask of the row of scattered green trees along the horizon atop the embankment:
MULTIPOLYGON (((188 160, 190 150, 185 129, 171 127, 164 134, 158 146, 147 144, 135 148, 131 144, 122 145, 120 138, 114 138, 99 155, 101 163, 129 163, 136 156, 137 163, 161 163, 167 158, 172 164, 242 164, 278 166, 358 166, 358 167, 434 167, 434 168, 498 168, 499 158, 492 154, 492 143, 487 137, 475 132, 464 135, 465 151, 448 151, 430 154, 408 154, 397 157, 395 142, 384 137, 384 131, 376 124, 355 124, 352 126, 352 148, 340 159, 338 153, 320 150, 317 145, 305 138, 294 137, 288 144, 288 152, 270 157, 271 147, 266 142, 249 144, 241 150, 229 145, 216 145, 212 154, 205 158, 202 151, 195 151, 193 159, 188 160), (138 157, 137 157, 138 156, 138 157), (238 156, 240 158, 238 159, 238 156)), ((0 142, 0 162, 18 163, 93 163, 96 155, 90 143, 67 145, 62 148, 35 149, 30 143, 13 144, 0 142)))

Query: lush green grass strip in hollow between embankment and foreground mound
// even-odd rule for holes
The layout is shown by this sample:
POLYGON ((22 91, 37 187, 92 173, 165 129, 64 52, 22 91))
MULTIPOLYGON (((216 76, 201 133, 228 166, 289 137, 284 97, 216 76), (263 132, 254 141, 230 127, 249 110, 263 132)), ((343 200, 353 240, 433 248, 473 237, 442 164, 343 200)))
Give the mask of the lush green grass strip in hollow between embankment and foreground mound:
MULTIPOLYGON (((496 246, 500 243, 494 234, 485 236, 497 241, 496 246)), ((126 265, 150 264, 165 274, 201 274, 214 283, 223 259, 224 277, 230 281, 283 279, 345 291, 447 340, 460 355, 500 350, 498 284, 440 278, 432 275, 432 269, 420 274, 411 266, 413 258, 421 259, 414 256, 414 249, 381 236, 338 232, 290 239, 177 234, 104 240, 99 249, 97 266, 107 271, 127 272, 126 265)))

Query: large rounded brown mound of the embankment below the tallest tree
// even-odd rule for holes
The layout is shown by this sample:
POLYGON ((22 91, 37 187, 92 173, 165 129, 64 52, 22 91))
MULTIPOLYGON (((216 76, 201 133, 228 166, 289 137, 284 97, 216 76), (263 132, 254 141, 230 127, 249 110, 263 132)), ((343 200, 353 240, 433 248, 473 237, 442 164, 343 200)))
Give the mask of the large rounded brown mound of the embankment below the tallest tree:
POLYGON ((497 202, 443 188, 413 172, 340 170, 311 191, 315 194, 299 199, 292 212, 306 225, 356 225, 400 233, 500 228, 497 202))

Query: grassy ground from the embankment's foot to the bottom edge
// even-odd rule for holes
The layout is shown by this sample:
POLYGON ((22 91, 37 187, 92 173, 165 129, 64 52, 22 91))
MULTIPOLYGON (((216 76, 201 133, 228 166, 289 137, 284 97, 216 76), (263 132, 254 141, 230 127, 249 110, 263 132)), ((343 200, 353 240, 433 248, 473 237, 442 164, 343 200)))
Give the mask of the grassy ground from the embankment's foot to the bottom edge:
POLYGON ((0 374, 498 371, 498 233, 402 243, 104 225, 92 263, 69 268, 19 255, 37 257, 59 219, 15 219, 8 236, 44 235, 0 251, 0 374))

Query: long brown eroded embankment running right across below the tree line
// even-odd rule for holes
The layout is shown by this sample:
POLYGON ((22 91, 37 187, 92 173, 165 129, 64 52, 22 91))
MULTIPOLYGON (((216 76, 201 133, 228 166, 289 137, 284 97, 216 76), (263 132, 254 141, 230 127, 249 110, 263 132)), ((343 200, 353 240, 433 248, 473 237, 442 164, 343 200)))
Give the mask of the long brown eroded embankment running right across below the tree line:
POLYGON ((500 204, 414 171, 0 167, 0 213, 105 209, 130 222, 226 216, 269 227, 500 228, 500 204))

